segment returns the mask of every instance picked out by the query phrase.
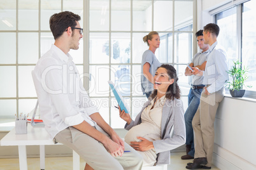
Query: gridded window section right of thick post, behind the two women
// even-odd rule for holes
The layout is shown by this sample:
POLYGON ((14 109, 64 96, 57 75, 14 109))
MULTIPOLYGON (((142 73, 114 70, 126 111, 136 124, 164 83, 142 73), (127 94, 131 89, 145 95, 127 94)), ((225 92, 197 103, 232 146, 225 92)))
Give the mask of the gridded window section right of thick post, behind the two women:
POLYGON ((183 73, 192 58, 192 11, 193 1, 90 1, 90 97, 108 103, 101 105, 99 112, 112 128, 123 128, 125 122, 113 107, 117 102, 108 80, 118 87, 135 118, 146 101, 140 84, 141 58, 148 49, 143 37, 152 30, 160 36, 155 55, 161 63, 171 63, 177 69, 186 105, 189 79, 183 73), (170 9, 177 15, 175 22, 170 9))

